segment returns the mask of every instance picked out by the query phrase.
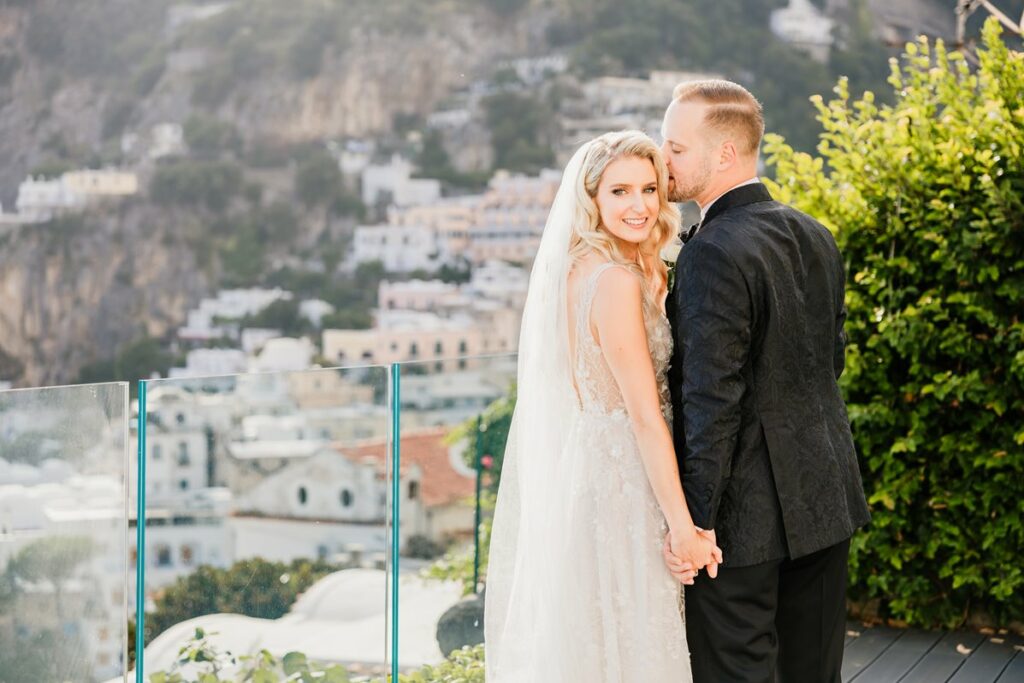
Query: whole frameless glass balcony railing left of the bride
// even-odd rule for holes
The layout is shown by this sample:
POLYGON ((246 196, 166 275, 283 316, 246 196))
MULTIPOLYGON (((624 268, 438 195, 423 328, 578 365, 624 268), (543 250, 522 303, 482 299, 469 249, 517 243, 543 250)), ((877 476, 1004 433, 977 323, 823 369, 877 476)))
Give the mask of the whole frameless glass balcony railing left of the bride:
POLYGON ((514 378, 504 355, 0 393, 0 670, 147 681, 212 646, 384 680, 477 642, 456 617, 514 378))

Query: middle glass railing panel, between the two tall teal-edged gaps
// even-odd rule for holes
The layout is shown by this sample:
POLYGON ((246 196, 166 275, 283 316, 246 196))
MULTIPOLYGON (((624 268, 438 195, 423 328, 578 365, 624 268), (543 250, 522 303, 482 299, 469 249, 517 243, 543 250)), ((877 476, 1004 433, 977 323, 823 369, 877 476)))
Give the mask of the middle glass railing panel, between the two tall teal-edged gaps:
POLYGON ((144 680, 205 643, 383 677, 388 373, 143 383, 144 680))

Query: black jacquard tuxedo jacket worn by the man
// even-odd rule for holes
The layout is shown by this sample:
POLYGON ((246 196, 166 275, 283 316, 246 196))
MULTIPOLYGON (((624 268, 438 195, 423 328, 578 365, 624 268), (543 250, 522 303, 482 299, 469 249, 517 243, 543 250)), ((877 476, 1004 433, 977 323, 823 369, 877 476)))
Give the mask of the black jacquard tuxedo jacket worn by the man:
POLYGON ((728 566, 807 555, 869 519, 838 384, 844 278, 831 233, 761 183, 716 201, 680 251, 676 453, 693 521, 728 566))

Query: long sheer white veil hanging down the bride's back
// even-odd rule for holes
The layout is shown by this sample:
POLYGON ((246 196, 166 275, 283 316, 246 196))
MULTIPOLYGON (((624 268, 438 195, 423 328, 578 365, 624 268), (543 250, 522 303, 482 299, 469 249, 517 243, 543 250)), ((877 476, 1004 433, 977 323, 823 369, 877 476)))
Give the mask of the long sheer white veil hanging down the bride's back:
MULTIPOLYGON (((580 175, 593 143, 562 174, 529 276, 519 333, 518 400, 509 429, 487 569, 484 629, 488 683, 571 680, 572 654, 548 652, 549 630, 574 613, 566 581, 573 528, 566 450, 578 398, 569 355, 566 279, 579 219, 580 175), (579 189, 578 189, 579 188, 579 189), (561 671, 560 671, 561 670, 561 671), (532 672, 532 673, 531 673, 532 672)), ((561 644, 564 647, 564 642, 561 644)))

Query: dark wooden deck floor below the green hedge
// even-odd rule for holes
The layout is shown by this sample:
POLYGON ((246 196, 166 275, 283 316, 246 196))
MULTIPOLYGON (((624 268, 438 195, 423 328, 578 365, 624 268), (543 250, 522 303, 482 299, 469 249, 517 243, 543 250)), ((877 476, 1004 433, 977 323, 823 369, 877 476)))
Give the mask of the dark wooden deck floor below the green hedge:
POLYGON ((1024 683, 1024 639, 847 625, 843 683, 1024 683))

